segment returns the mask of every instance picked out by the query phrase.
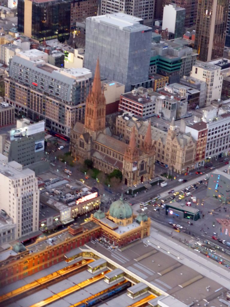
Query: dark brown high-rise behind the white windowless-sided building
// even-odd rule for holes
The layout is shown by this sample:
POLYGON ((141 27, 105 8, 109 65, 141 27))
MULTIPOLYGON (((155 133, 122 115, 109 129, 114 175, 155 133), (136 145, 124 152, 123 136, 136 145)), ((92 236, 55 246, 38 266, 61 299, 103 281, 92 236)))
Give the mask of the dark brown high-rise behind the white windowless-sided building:
MULTIPOLYGON (((161 1, 158 1, 159 3, 161 1)), ((185 23, 186 28, 190 28, 196 24, 197 19, 197 2, 198 0, 163 0, 162 6, 169 4, 176 4, 177 6, 183 7, 186 10, 185 13, 185 23)), ((163 8, 162 8, 163 14, 163 8)))

